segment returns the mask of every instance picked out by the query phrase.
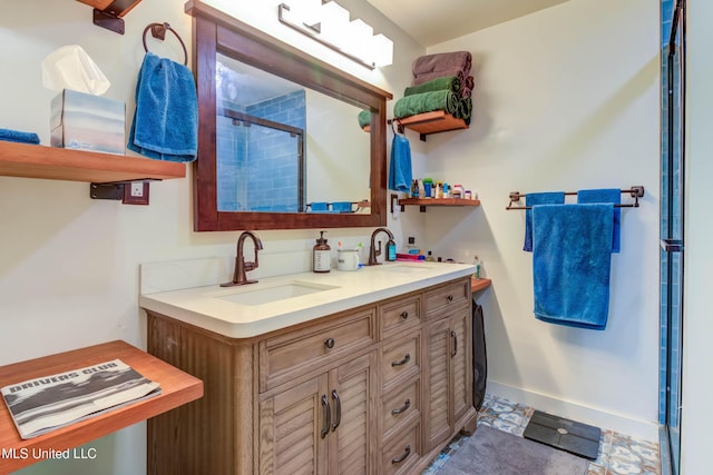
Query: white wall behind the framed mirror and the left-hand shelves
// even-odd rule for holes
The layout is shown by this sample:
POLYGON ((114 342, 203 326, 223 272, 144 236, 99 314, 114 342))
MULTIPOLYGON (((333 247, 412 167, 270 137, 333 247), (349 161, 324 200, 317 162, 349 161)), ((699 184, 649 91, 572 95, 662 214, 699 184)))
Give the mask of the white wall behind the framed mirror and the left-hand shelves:
MULTIPOLYGON (((250 3, 248 16, 276 23, 274 4, 250 3)), ((383 18, 368 18, 374 14, 370 7, 356 8, 367 21, 398 42, 397 56, 402 63, 410 65, 412 58, 423 53, 422 47, 383 18)), ((0 16, 0 127, 36 131, 43 145, 49 144, 49 103, 55 93, 42 88, 40 62, 55 49, 72 43, 80 44, 111 81, 106 96, 126 101, 128 127, 144 56, 144 28, 154 21, 169 22, 189 52, 192 32, 182 0, 144 1, 125 20, 126 34, 120 36, 95 27, 91 8, 77 1, 26 0, 6 4, 0 16)), ((183 59, 172 34, 164 44, 150 34, 148 41, 152 51, 183 59)), ((336 60, 332 62, 339 65, 336 60)), ((381 71, 369 76, 361 68, 360 72, 385 89, 402 89, 410 75, 402 63, 383 70, 388 80, 381 71)), ((235 253, 238 232, 193 231, 191 167, 186 179, 152 184, 148 207, 91 200, 88 195, 88 184, 0 177, 0 365, 113 339, 145 348, 145 318, 137 304, 139 265, 235 253)), ((400 232, 400 224, 390 226, 400 232)), ((341 239, 348 245, 367 244, 371 231, 331 229, 326 237, 330 243, 341 239)), ((316 230, 258 235, 265 247, 264 257, 290 253, 287 256, 300 258, 303 253, 296 251, 311 249, 319 236, 316 230)), ((42 462, 22 473, 145 472, 145 424, 89 446, 97 449, 96 461, 42 462)))

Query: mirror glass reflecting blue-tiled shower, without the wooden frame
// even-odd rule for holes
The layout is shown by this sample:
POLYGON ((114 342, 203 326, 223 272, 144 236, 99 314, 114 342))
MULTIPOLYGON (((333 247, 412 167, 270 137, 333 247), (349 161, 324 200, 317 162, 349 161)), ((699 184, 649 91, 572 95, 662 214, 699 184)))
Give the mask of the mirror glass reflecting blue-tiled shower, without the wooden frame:
POLYGON ((218 210, 368 212, 360 110, 217 53, 218 210))

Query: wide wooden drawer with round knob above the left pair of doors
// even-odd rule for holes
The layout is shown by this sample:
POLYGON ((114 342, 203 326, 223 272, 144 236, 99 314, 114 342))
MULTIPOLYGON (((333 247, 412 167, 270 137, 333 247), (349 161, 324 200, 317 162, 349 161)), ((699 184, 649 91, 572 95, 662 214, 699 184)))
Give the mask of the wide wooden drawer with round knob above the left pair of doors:
POLYGON ((331 364, 374 342, 374 307, 261 340, 260 390, 331 364))

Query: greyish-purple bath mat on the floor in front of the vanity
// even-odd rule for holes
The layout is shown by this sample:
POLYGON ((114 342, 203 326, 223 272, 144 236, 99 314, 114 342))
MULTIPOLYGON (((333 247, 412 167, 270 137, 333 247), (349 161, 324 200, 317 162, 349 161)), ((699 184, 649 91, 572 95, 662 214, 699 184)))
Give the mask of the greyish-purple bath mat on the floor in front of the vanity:
POLYGON ((588 467, 584 458, 480 425, 438 475, 586 475, 588 467))

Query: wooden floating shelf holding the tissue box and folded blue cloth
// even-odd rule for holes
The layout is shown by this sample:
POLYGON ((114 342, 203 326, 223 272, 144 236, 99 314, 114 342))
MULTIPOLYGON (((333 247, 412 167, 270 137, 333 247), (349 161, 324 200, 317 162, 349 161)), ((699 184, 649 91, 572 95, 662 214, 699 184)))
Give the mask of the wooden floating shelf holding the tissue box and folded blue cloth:
POLYGON ((0 141, 0 176, 87 182, 184 178, 186 165, 125 155, 0 141))

